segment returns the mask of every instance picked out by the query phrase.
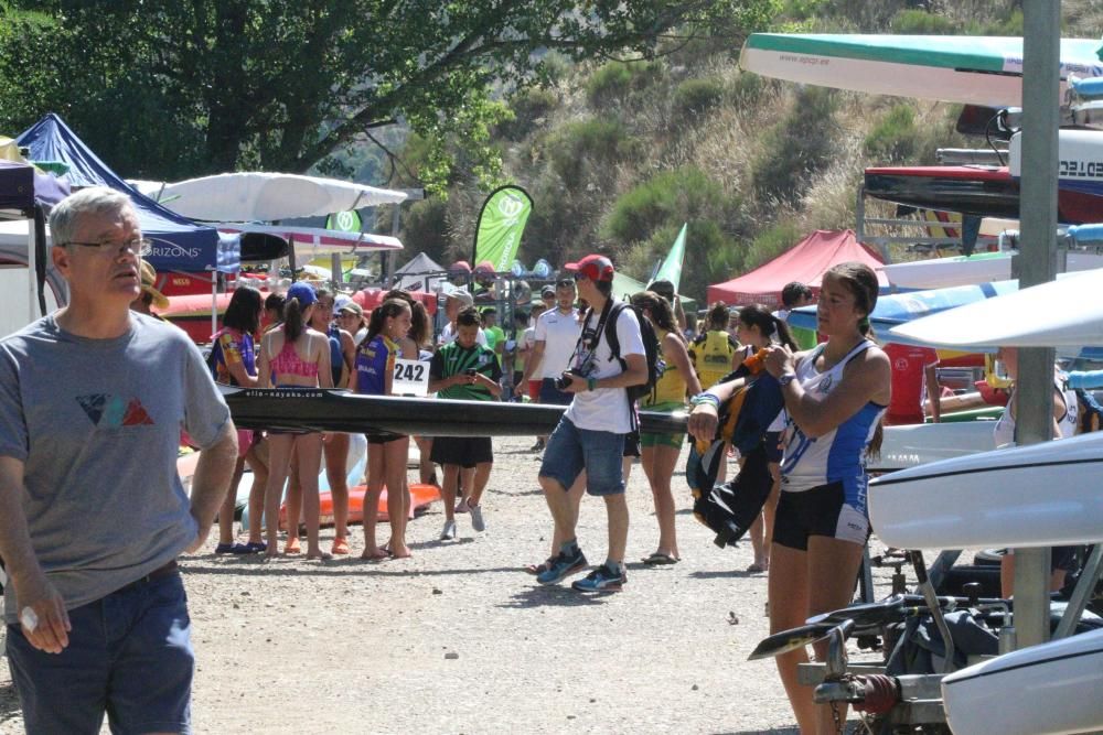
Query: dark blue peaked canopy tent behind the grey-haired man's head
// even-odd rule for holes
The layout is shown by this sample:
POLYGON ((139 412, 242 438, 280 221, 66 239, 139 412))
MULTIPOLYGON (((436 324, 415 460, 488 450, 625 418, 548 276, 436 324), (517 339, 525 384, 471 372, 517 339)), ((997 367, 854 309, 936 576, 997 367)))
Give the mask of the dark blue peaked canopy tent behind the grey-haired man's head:
POLYGON ((218 231, 214 227, 196 225, 127 184, 53 112, 24 130, 17 142, 30 151, 32 161, 65 163, 74 188, 101 185, 127 194, 138 210, 142 235, 153 241, 151 251, 142 256, 158 271, 194 273, 217 268, 218 231))

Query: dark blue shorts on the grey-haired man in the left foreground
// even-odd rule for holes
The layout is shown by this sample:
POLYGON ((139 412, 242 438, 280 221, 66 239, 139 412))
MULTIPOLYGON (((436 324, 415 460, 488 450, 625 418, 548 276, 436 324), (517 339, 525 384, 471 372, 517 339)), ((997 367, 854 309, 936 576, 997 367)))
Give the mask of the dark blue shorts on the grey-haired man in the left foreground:
POLYGON ((180 574, 114 592, 69 610, 61 653, 8 626, 8 666, 29 733, 191 732, 192 652, 180 574))

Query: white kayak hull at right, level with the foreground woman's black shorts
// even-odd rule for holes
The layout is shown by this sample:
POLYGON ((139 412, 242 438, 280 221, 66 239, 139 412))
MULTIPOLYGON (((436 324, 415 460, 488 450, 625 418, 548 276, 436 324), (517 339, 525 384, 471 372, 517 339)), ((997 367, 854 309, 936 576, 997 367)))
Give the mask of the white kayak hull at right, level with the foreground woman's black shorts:
POLYGON ((919 465, 869 484, 869 519, 900 549, 1103 540, 1103 432, 919 465))

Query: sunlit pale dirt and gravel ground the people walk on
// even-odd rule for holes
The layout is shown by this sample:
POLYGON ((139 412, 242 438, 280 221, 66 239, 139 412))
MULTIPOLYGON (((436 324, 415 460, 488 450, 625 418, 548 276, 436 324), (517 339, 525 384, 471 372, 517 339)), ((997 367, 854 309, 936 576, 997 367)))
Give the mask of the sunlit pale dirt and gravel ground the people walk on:
MULTIPOLYGON (((436 504, 410 523, 411 559, 266 563, 215 556, 212 539, 181 560, 195 732, 795 733, 773 662, 747 661, 768 633, 765 574, 745 571, 748 542, 717 549, 689 515, 685 457, 674 478, 683 561, 638 561, 658 531, 636 465, 628 584, 587 596, 522 570, 547 555, 550 528, 532 442, 495 441, 485 532, 460 516, 459 538, 438 541, 436 504)), ((328 549, 332 529, 322 538, 328 549)), ((603 560, 595 498, 582 502, 579 540, 603 560)), ((356 527, 354 555, 362 549, 356 527)), ((885 582, 878 574, 879 595, 885 582)), ((17 732, 4 661, 0 733, 17 732)))

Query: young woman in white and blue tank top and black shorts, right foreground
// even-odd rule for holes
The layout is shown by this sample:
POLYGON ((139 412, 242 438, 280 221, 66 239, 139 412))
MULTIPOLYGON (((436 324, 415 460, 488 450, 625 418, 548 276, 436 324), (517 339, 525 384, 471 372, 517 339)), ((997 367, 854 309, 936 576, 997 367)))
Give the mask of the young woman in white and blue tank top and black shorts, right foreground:
MULTIPOLYGON (((864 455, 888 407, 891 383, 888 357, 866 337, 877 291, 868 266, 835 266, 823 277, 817 309, 817 331, 827 335, 826 344, 796 355, 783 346, 769 348, 765 368, 782 383, 790 418, 782 466, 788 474, 770 551, 771 633, 845 607, 854 593, 869 522, 861 507, 864 455), (844 476, 835 476, 838 466, 848 468, 844 476), (818 476, 827 484, 805 487, 803 480, 822 482, 812 480, 818 476)), ((826 653, 823 648, 817 646, 820 656, 826 653)), ((797 681, 796 668, 804 661, 804 649, 778 657, 801 732, 834 732, 831 709, 816 705, 812 688, 797 681)), ((839 715, 846 718, 845 707, 839 715)))

